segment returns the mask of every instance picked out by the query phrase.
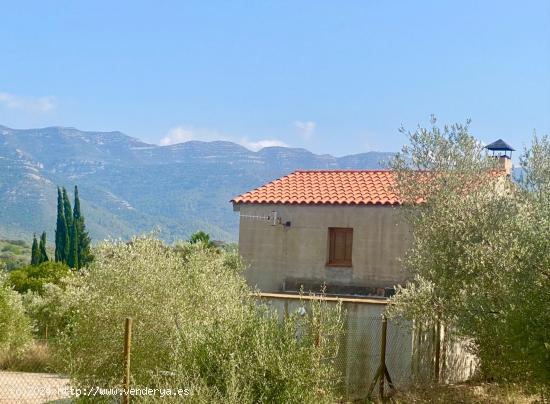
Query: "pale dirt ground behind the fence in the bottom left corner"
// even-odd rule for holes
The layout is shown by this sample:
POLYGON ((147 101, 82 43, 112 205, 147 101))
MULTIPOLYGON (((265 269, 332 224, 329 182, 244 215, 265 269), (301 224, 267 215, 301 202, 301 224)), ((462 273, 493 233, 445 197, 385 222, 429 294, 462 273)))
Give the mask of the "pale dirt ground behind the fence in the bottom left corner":
POLYGON ((0 404, 42 404, 69 397, 67 378, 49 373, 0 371, 0 404))

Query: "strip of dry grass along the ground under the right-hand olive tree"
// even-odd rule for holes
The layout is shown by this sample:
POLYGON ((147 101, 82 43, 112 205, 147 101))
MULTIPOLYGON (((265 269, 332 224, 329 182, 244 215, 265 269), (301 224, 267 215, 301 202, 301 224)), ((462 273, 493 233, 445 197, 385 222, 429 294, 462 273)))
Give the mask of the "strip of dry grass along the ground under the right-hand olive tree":
POLYGON ((398 392, 390 402, 396 404, 535 404, 548 402, 542 400, 541 395, 528 393, 518 385, 461 383, 418 387, 398 392))

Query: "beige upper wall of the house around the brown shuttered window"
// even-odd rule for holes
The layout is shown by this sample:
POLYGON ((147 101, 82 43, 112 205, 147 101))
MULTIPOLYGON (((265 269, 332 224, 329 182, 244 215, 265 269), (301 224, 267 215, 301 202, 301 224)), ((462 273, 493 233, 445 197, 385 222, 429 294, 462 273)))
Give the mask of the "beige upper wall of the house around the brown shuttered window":
POLYGON ((289 278, 375 288, 406 279, 399 259, 410 235, 396 208, 281 204, 238 208, 239 250, 250 266, 246 277, 262 291, 281 291, 289 278), (257 218, 272 211, 281 225, 257 218), (287 221, 290 227, 283 225, 287 221), (352 267, 327 266, 329 227, 353 228, 352 267))

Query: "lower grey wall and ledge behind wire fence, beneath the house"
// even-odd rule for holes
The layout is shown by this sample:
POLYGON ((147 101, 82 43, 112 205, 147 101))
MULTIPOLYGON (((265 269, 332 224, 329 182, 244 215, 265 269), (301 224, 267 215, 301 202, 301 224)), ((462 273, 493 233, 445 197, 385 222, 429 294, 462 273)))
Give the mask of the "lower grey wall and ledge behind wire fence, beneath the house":
MULTIPOLYGON (((301 307, 307 310, 307 301, 319 298, 272 293, 260 296, 281 316, 301 307)), ((322 299, 343 305, 344 333, 336 366, 343 396, 348 400, 380 395, 381 389, 388 394, 392 387, 406 389, 433 381, 465 381, 476 370, 477 360, 466 350, 467 342, 453 338, 442 326, 438 331, 437 327, 410 321, 384 320, 385 299, 322 299), (384 378, 378 374, 381 365, 384 378)))

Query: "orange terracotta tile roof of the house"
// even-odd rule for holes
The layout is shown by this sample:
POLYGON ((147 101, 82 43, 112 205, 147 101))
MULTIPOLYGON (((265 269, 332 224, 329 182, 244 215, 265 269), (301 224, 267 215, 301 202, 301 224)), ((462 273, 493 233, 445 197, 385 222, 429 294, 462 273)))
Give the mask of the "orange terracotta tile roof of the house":
POLYGON ((231 200, 239 203, 399 205, 392 171, 295 171, 231 200))

